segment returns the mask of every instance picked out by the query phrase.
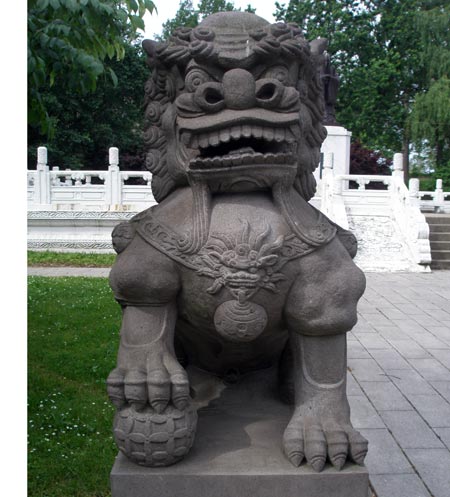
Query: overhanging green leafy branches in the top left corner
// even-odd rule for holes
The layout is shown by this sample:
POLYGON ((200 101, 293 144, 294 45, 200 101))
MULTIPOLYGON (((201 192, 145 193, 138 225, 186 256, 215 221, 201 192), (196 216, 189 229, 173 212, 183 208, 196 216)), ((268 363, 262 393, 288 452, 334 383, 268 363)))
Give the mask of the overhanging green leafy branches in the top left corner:
POLYGON ((28 120, 42 132, 54 132, 51 110, 42 92, 59 82, 67 91, 95 90, 98 77, 117 76, 107 59, 122 59, 126 40, 144 29, 151 0, 29 0, 28 120))

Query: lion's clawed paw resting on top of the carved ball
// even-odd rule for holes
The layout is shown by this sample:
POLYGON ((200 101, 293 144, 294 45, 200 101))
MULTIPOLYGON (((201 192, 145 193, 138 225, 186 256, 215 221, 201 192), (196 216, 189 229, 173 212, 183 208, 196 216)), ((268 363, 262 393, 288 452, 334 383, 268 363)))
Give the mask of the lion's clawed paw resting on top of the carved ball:
POLYGON ((113 369, 107 386, 111 402, 118 408, 126 403, 136 409, 150 404, 157 413, 162 413, 169 402, 180 410, 189 402, 186 371, 164 347, 152 347, 145 366, 140 369, 113 369))

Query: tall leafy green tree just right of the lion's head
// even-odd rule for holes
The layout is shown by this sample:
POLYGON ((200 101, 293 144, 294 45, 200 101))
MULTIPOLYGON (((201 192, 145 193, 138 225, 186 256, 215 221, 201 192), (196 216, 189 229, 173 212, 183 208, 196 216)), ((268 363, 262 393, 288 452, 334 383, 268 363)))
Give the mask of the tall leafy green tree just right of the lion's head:
POLYGON ((415 32, 419 0, 291 0, 278 19, 294 21, 309 39, 328 38, 341 85, 338 121, 369 148, 403 149, 414 95, 423 88, 421 43, 415 32))

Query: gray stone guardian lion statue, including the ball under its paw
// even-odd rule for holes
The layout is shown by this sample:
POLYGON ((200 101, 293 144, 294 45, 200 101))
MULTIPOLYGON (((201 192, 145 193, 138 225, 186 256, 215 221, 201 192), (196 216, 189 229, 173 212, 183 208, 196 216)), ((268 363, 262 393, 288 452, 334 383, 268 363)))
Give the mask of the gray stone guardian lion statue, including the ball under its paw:
POLYGON ((308 203, 326 136, 324 40, 250 13, 145 40, 146 166, 158 205, 118 225, 110 282, 123 310, 108 393, 133 461, 192 446, 186 366, 216 377, 278 365, 295 466, 362 464, 346 396, 346 332, 365 277, 354 237, 308 203))

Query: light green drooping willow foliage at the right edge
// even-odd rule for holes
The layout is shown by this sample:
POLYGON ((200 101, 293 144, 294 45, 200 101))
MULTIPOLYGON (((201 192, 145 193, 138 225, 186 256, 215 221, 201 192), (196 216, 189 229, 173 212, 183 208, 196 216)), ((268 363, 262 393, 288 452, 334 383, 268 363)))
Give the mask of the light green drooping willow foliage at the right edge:
POLYGON ((435 176, 450 187, 450 5, 424 2, 416 25, 428 84, 415 98, 409 130, 419 152, 431 149, 435 176))

